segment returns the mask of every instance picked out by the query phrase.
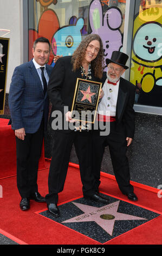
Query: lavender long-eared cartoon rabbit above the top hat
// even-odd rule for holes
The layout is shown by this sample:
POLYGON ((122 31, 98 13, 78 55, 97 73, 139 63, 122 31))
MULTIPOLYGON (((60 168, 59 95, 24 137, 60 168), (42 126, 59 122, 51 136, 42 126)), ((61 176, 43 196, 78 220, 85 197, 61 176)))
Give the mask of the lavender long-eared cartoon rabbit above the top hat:
POLYGON ((106 59, 111 58, 113 51, 120 51, 122 47, 122 14, 117 7, 109 7, 105 15, 99 0, 94 0, 89 5, 89 22, 92 34, 100 35, 103 42, 105 71, 106 59))

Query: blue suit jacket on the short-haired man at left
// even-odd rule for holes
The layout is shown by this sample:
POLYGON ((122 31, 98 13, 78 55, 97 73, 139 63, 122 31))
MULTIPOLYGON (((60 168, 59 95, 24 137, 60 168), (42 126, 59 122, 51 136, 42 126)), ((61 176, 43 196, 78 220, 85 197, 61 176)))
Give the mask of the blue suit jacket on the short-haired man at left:
MULTIPOLYGON (((52 66, 46 65, 50 76, 52 66)), ((44 95, 40 77, 33 60, 17 66, 12 76, 9 91, 9 124, 13 130, 24 127, 26 133, 35 133, 40 127, 43 111, 47 129, 49 97, 44 95)))

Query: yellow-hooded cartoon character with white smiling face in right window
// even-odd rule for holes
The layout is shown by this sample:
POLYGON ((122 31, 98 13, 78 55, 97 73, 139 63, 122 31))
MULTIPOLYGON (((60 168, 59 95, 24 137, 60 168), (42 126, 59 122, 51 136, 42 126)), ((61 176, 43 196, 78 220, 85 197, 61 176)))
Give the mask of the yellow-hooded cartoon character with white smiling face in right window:
POLYGON ((162 106, 162 7, 152 5, 134 20, 130 81, 135 103, 162 106))

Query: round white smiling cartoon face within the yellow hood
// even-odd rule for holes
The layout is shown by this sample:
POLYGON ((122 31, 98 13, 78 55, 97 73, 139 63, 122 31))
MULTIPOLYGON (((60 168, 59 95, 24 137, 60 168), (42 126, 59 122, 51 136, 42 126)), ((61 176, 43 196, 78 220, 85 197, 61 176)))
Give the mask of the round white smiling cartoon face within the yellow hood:
POLYGON ((134 35, 133 51, 135 56, 145 62, 157 62, 161 58, 159 51, 162 43, 160 23, 145 23, 134 35))

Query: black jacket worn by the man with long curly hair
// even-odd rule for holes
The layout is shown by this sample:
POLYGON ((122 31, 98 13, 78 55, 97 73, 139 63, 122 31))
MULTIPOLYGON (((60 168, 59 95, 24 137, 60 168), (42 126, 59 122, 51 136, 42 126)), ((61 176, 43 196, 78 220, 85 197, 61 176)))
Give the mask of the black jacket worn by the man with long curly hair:
MULTIPOLYGON (((101 82, 94 76, 93 70, 91 70, 91 76, 92 81, 101 82)), ((47 91, 53 105, 52 111, 62 113, 62 125, 66 123, 64 115, 72 110, 77 78, 82 78, 81 70, 73 71, 72 56, 65 56, 57 60, 51 72, 47 91), (64 107, 66 107, 66 111, 64 111, 64 107)), ((59 130, 64 133, 70 132, 64 126, 59 130)))

